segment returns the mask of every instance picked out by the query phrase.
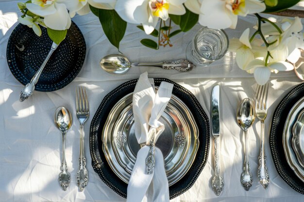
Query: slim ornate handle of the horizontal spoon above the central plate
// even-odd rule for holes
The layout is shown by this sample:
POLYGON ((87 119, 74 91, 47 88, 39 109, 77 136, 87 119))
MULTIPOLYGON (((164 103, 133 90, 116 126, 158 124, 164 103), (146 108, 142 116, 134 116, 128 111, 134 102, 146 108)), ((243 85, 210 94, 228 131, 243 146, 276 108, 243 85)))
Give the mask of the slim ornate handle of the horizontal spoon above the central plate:
POLYGON ((156 63, 131 63, 131 66, 150 66, 161 67, 163 69, 175 69, 181 72, 188 72, 196 67, 195 64, 188 60, 165 61, 156 63))

